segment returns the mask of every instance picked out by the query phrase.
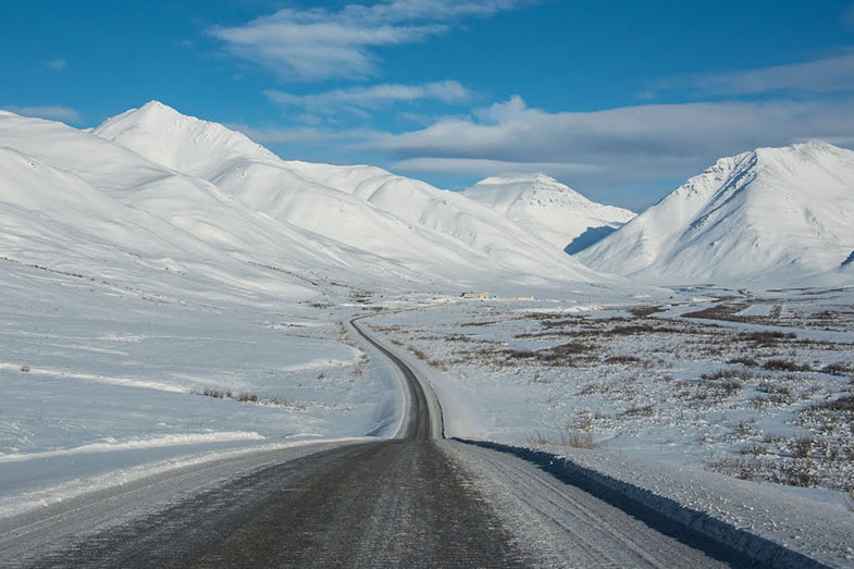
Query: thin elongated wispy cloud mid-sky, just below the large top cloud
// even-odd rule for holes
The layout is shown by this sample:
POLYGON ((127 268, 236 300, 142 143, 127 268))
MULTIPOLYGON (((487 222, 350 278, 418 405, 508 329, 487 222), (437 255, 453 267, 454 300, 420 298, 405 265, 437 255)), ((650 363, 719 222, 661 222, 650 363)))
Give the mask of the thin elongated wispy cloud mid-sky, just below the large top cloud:
POLYGON ((455 81, 425 83, 422 85, 385 83, 370 87, 334 89, 312 95, 293 95, 271 89, 264 91, 264 95, 279 104, 324 113, 334 113, 338 110, 375 109, 384 104, 419 100, 458 103, 466 101, 471 96, 466 87, 455 81))

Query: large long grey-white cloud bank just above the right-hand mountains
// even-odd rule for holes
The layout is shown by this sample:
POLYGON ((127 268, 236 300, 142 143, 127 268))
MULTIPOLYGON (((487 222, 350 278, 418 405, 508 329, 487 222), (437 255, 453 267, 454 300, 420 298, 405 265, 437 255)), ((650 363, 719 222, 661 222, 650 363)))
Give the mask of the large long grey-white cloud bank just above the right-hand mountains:
POLYGON ((722 156, 805 139, 850 140, 852 133, 854 100, 647 104, 548 113, 513 97, 467 119, 374 137, 361 148, 387 152, 410 170, 571 172, 571 182, 580 187, 606 187, 684 177, 722 156))

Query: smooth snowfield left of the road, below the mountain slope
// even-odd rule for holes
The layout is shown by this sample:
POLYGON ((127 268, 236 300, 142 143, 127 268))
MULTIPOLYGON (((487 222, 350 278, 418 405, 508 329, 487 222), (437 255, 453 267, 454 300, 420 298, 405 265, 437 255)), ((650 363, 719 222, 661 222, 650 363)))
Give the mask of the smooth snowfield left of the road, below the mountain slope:
POLYGON ((383 435, 401 397, 355 309, 201 305, 32 267, 0 272, 0 516, 211 452, 383 435))

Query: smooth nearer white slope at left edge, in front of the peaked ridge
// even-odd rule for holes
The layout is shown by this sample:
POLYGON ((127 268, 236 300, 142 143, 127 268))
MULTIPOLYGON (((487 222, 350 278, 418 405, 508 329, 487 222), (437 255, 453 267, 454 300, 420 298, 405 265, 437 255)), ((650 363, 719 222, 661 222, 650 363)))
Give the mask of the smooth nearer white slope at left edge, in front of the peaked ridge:
POLYGON ((357 286, 418 276, 259 215, 206 181, 61 123, 0 113, 0 186, 7 262, 206 301, 311 298, 320 294, 311 284, 320 273, 357 286))

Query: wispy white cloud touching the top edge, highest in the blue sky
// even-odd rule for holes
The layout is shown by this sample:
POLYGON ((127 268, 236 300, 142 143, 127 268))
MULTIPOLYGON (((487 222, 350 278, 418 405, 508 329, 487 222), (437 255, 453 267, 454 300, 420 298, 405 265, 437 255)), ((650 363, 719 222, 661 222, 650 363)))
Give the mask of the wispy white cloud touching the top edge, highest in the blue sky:
POLYGON ((274 71, 284 81, 367 77, 376 71, 373 50, 420 42, 466 17, 486 17, 532 0, 387 0, 375 4, 284 9, 243 26, 209 34, 232 53, 274 71))

